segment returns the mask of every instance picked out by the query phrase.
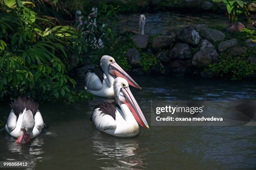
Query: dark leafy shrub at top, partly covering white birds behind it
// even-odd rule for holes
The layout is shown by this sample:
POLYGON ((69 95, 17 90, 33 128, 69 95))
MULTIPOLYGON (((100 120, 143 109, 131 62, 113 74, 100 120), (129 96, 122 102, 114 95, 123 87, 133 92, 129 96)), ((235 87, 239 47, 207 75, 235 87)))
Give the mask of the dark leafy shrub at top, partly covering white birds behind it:
POLYGON ((107 40, 113 40, 115 34, 110 28, 110 19, 113 16, 118 15, 118 8, 114 8, 112 5, 102 4, 99 8, 94 7, 96 13, 91 11, 89 15, 78 15, 82 17, 82 24, 76 23, 74 26, 78 28, 78 37, 74 44, 77 45, 78 53, 87 53, 87 51, 93 51, 95 48, 101 48, 103 42, 104 46, 108 46, 108 43, 104 43, 107 40), (81 24, 81 25, 79 25, 81 24))

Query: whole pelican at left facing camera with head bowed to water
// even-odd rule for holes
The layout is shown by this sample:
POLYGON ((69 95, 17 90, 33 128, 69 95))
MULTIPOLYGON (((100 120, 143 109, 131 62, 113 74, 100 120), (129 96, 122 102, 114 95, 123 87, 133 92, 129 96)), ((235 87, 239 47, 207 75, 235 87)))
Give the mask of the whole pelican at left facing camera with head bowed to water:
POLYGON ((38 136, 44 128, 44 120, 38 106, 33 99, 26 97, 18 97, 11 102, 12 110, 5 124, 5 130, 17 139, 16 143, 29 142, 38 136))

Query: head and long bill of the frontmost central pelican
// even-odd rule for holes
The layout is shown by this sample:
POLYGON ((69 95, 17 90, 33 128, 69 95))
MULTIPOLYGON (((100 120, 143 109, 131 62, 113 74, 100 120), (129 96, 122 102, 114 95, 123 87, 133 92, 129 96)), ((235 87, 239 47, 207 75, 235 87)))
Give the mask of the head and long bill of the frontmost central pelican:
POLYGON ((117 103, 126 104, 138 124, 149 129, 148 123, 141 111, 141 108, 138 106, 137 101, 131 93, 128 81, 121 77, 117 77, 114 81, 114 93, 117 103))

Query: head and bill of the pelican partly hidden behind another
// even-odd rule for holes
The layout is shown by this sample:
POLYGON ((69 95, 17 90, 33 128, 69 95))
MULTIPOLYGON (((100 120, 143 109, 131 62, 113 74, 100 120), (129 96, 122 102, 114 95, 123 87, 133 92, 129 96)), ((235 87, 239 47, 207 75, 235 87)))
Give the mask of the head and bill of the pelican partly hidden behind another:
POLYGON ((126 81, 128 81, 128 83, 137 88, 137 89, 141 89, 141 87, 131 78, 131 76, 129 76, 119 65, 118 63, 115 62, 115 59, 111 56, 102 56, 101 60, 100 60, 100 66, 102 68, 102 70, 105 73, 110 73, 112 76, 114 77, 122 77, 124 78, 126 81))

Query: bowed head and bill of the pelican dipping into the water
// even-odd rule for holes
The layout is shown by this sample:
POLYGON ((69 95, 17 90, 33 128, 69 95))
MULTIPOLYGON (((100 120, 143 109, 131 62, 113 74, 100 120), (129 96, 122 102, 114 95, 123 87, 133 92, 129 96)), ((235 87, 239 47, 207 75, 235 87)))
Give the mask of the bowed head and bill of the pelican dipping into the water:
POLYGON ((35 126, 33 113, 30 110, 24 109, 23 118, 20 127, 20 136, 16 140, 17 143, 27 143, 30 141, 30 134, 35 126))

